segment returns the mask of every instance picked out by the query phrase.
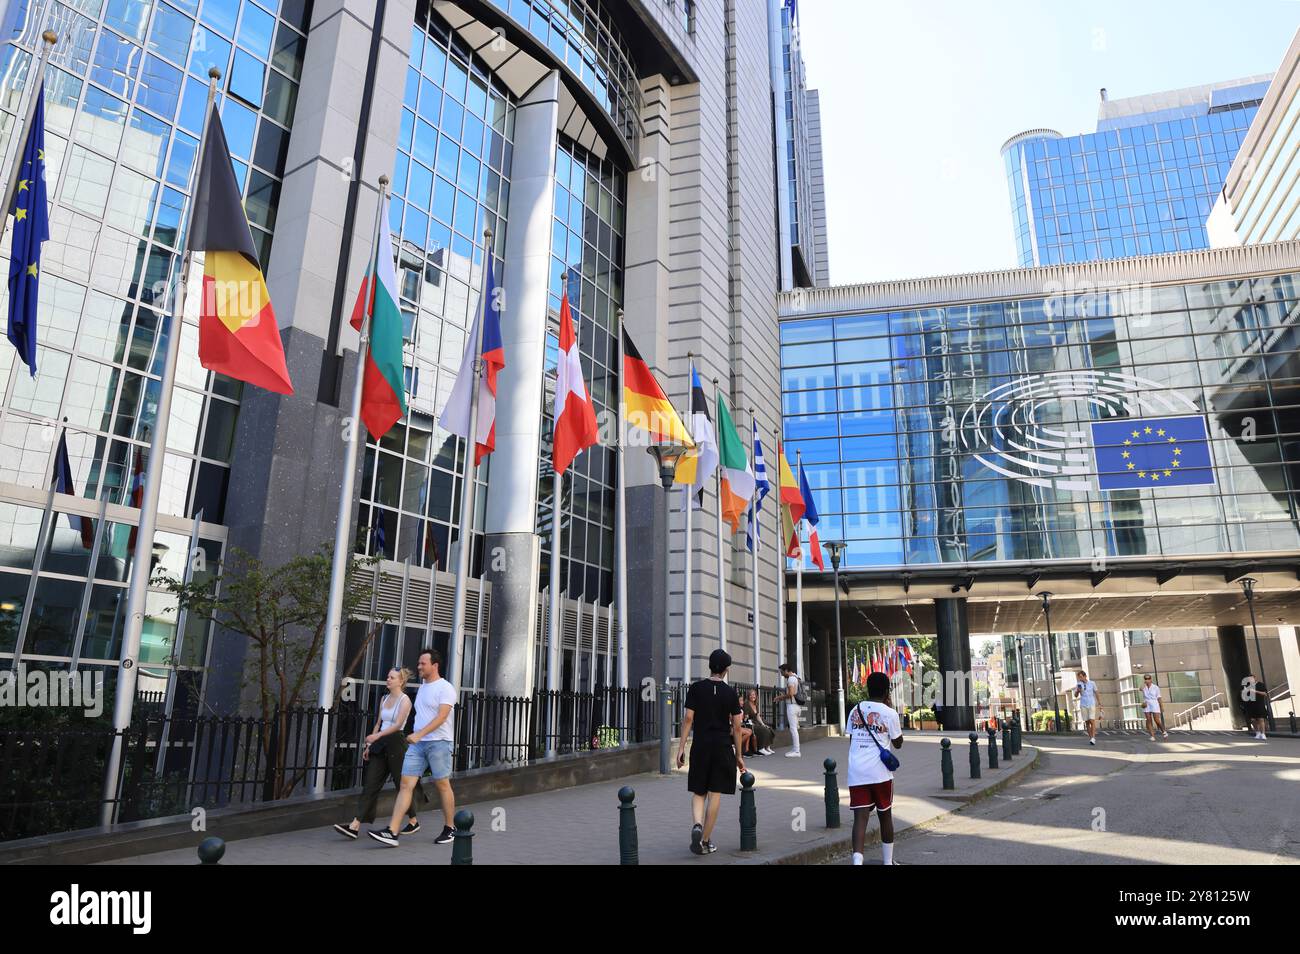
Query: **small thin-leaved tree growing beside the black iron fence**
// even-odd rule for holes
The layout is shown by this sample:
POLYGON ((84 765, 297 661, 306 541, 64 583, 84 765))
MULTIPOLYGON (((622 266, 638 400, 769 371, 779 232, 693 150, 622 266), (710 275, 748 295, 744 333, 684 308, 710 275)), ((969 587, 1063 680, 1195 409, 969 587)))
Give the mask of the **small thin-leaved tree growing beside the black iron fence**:
MULTIPOLYGON (((179 608, 238 633, 252 643, 255 665, 246 673, 244 685, 256 685, 263 725, 276 724, 277 730, 263 732, 260 741, 266 763, 274 767, 274 798, 291 794, 304 775, 299 772, 290 777, 283 771, 290 736, 287 728, 290 714, 311 701, 308 693, 315 685, 311 677, 318 672, 329 610, 330 563, 332 550, 320 547, 315 552, 300 554, 278 567, 268 568, 257 558, 235 547, 213 577, 188 584, 172 577, 159 581, 177 597, 179 608)), ((370 587, 363 582, 358 571, 377 564, 376 556, 348 561, 343 587, 344 623, 359 615, 370 600, 370 587)), ((330 701, 330 708, 335 712, 344 681, 360 664, 367 647, 389 619, 387 615, 380 615, 373 620, 361 645, 347 660, 330 701)))

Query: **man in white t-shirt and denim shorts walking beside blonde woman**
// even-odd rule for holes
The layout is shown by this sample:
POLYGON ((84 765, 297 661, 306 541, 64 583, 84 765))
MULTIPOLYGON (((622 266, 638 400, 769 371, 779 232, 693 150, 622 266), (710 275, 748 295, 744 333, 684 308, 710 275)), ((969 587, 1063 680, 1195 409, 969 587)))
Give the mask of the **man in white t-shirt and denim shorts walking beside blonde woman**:
POLYGON ((402 788, 393 803, 393 820, 387 828, 372 828, 367 834, 389 847, 398 846, 398 825, 411 806, 416 784, 429 769, 433 785, 442 802, 442 833, 434 845, 452 841, 451 818, 456 814, 456 797, 451 792, 451 746, 455 740, 456 688, 442 678, 442 654, 422 650, 416 672, 420 673, 420 691, 415 697, 415 723, 407 736, 406 758, 402 760, 402 788))

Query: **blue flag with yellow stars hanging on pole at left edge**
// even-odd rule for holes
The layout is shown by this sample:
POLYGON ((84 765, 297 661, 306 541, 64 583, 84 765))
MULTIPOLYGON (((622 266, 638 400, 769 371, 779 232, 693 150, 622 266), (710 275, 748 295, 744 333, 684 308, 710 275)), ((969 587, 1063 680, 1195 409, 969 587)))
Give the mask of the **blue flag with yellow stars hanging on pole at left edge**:
POLYGON ((9 248, 9 341, 36 376, 36 286, 40 244, 49 238, 46 205, 46 87, 36 91, 36 109, 22 148, 13 194, 13 246, 9 248))

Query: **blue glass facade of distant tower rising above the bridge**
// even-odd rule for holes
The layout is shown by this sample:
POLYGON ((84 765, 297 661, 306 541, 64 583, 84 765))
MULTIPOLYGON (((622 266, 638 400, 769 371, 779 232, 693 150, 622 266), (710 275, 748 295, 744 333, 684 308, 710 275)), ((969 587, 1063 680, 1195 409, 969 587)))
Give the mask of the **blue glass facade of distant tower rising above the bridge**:
POLYGON ((1058 265, 1208 248, 1205 220, 1262 91, 1017 136, 1004 147, 1019 264, 1058 265))

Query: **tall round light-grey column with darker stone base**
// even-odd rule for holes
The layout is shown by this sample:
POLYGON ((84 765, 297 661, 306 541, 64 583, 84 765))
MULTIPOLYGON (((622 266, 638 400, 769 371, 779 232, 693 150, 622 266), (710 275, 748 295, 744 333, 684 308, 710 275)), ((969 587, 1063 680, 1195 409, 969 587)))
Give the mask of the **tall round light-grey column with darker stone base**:
POLYGON ((537 629, 537 461, 546 360, 546 289, 555 207, 559 74, 542 79, 515 110, 515 160, 506 209, 506 368, 497 380, 497 450, 488 482, 484 574, 493 585, 486 689, 532 695, 537 629))

